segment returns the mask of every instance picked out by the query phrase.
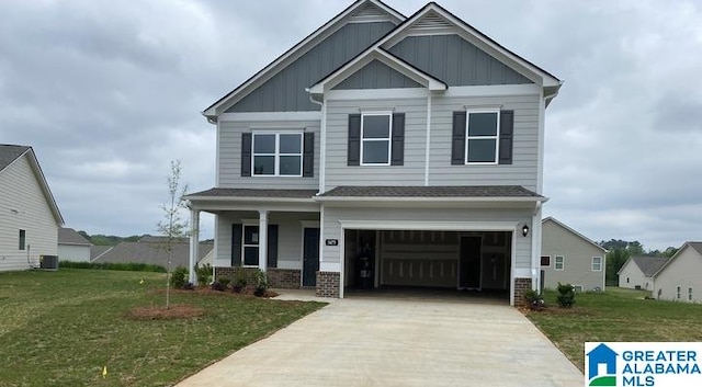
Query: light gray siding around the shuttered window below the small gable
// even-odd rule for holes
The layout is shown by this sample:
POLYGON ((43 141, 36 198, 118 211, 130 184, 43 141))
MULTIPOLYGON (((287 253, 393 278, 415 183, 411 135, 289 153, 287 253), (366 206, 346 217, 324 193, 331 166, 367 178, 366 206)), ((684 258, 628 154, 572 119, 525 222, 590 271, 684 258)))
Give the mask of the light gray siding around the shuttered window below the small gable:
POLYGON ((329 101, 326 190, 337 185, 423 185, 426 133, 426 99, 329 101), (364 109, 405 113, 404 166, 347 166, 349 114, 359 114, 364 109))

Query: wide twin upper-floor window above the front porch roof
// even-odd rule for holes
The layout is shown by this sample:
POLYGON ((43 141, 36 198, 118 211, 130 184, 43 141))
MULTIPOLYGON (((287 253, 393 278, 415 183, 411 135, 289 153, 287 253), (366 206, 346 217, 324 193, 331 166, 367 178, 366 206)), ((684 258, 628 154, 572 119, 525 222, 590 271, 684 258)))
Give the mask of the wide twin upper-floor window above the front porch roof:
POLYGON ((302 177, 302 133, 254 133, 253 175, 302 177))

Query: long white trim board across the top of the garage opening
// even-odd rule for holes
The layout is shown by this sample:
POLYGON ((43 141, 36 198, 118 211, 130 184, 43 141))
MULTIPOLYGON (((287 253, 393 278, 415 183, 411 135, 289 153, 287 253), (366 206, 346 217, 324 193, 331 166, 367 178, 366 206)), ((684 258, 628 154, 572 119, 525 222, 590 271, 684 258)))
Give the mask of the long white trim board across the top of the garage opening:
POLYGON ((339 219, 342 229, 432 230, 432 231, 514 231, 520 221, 412 221, 339 219))

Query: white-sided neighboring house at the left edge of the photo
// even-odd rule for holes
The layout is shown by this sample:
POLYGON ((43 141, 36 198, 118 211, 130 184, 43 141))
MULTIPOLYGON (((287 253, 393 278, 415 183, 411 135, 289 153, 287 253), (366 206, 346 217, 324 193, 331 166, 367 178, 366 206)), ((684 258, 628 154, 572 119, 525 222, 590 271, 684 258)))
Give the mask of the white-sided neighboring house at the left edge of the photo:
POLYGON ((0 271, 58 254, 64 218, 32 147, 0 145, 0 271))

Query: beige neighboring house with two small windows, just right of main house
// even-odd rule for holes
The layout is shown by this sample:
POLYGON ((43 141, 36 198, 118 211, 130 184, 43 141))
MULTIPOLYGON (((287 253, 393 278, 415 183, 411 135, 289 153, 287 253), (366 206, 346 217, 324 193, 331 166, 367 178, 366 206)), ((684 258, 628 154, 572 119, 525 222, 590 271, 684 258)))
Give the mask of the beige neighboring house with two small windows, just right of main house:
POLYGON ((542 220, 541 272, 544 287, 571 284, 576 292, 604 291, 607 250, 553 217, 542 220))

